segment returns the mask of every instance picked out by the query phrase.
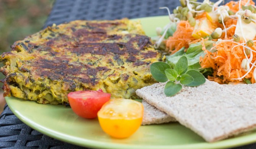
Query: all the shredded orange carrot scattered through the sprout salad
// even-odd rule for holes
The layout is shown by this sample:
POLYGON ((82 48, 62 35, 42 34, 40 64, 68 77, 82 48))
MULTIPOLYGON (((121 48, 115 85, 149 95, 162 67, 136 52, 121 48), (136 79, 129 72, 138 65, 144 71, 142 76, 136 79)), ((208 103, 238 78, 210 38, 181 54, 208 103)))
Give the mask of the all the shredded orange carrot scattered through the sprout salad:
MULTIPOLYGON (((244 78, 249 79, 251 83, 255 83, 254 78, 256 78, 256 76, 254 76, 253 74, 256 74, 256 71, 254 72, 254 69, 256 67, 256 37, 254 37, 253 39, 254 44, 250 47, 251 49, 249 53, 245 52, 246 48, 244 46, 246 46, 246 41, 240 40, 235 42, 235 39, 233 37, 233 35, 235 34, 236 26, 237 24, 239 24, 239 18, 237 16, 240 15, 241 17, 244 17, 240 13, 241 11, 243 11, 241 10, 242 5, 253 5, 253 7, 256 9, 255 3, 252 0, 240 0, 238 2, 231 1, 226 5, 222 6, 222 10, 220 10, 219 12, 222 12, 224 7, 228 6, 229 10, 232 11, 234 15, 230 15, 225 19, 223 19, 222 16, 222 21, 213 22, 214 25, 217 24, 217 27, 222 29, 222 34, 219 39, 212 39, 217 42, 216 44, 213 44, 211 50, 206 50, 206 47, 204 46, 204 44, 202 44, 202 50, 204 50, 206 55, 200 58, 199 64, 202 68, 212 68, 213 74, 212 76, 208 76, 208 79, 216 81, 218 83, 239 82, 242 81, 244 78), (248 60, 248 62, 246 60, 248 60), (245 61, 247 62, 246 66, 244 64, 245 61)), ((216 12, 217 8, 214 8, 214 10, 216 12)), ((245 11, 243 12, 245 15, 245 11)), ((255 14, 254 11, 253 13, 255 14)), ((197 15, 195 17, 195 19, 197 20, 201 20, 204 18, 207 18, 206 12, 201 13, 200 15, 197 15)), ((255 20, 252 21, 254 21, 252 23, 255 23, 255 20)), ((165 41, 166 47, 167 49, 169 49, 169 52, 171 54, 177 52, 182 47, 188 48, 189 45, 192 43, 200 41, 203 42, 205 40, 203 38, 195 39, 194 36, 192 36, 194 28, 194 26, 190 25, 189 21, 180 21, 179 23, 177 23, 177 30, 174 32, 172 37, 169 37, 165 41)), ((240 36, 240 38, 243 37, 240 36)))

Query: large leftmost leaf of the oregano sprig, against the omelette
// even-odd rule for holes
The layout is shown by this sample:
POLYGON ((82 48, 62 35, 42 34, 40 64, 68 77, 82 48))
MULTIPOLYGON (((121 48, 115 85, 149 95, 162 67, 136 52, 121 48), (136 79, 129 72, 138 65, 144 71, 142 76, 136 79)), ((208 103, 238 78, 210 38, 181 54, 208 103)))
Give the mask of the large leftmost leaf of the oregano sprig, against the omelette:
POLYGON ((171 67, 164 62, 156 62, 150 65, 150 71, 154 79, 158 82, 166 82, 168 79, 165 75, 165 70, 171 67))

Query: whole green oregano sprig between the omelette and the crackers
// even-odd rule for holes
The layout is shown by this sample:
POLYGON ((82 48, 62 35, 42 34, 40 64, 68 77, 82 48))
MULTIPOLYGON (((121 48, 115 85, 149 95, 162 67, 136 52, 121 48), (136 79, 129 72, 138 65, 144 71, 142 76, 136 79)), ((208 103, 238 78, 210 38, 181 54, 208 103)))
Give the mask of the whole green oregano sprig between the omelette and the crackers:
POLYGON ((177 94, 182 89, 181 84, 185 86, 199 86, 206 81, 199 71, 188 70, 188 59, 185 56, 180 57, 174 67, 164 62, 152 63, 150 71, 156 81, 168 81, 164 87, 166 96, 177 94))

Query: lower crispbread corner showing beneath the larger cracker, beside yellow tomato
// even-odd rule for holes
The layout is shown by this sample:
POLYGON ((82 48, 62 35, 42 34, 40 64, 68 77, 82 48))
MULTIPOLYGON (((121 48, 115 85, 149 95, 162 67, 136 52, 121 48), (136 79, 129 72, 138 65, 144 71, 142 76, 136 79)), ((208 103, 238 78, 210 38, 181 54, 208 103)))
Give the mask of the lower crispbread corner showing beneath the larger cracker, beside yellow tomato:
POLYGON ((159 109, 156 109, 156 107, 150 105, 145 100, 142 101, 142 104, 144 107, 144 115, 141 125, 161 124, 176 121, 175 118, 170 117, 159 109))

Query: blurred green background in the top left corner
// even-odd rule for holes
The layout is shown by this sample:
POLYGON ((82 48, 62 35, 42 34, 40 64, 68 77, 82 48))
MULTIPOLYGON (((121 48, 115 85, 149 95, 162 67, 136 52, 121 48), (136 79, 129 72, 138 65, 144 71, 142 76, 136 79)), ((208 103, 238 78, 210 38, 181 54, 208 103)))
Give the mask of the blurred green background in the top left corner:
MULTIPOLYGON (((15 41, 40 31, 53 3, 54 0, 0 0, 0 54, 10 51, 15 41)), ((0 79, 4 78, 0 74, 0 79)), ((0 99, 0 113, 1 104, 0 99)))

